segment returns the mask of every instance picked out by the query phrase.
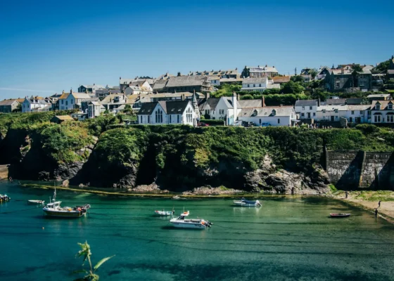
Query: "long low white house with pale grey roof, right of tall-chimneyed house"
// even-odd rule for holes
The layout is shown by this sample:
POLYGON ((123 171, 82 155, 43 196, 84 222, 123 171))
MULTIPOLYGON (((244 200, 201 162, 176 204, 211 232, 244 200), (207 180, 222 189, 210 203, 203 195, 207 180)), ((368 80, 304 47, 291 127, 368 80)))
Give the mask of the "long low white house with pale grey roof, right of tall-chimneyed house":
POLYGON ((292 126, 296 119, 293 106, 263 106, 243 108, 238 115, 239 121, 253 122, 256 126, 292 126))

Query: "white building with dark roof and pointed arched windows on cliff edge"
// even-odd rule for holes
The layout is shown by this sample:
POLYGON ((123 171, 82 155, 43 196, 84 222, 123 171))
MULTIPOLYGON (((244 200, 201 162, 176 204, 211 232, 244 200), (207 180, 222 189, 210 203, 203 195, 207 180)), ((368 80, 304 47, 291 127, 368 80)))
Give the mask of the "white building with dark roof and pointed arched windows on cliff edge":
POLYGON ((197 124, 196 112, 190 100, 142 103, 137 118, 139 124, 197 124))

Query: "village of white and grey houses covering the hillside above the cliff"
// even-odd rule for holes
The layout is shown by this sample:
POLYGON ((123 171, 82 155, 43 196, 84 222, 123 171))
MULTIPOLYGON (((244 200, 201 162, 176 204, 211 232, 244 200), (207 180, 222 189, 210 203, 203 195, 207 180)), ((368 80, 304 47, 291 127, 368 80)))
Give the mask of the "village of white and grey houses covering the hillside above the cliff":
POLYGON ((117 86, 0 101, 0 112, 72 110, 53 122, 126 115, 127 124, 346 127, 392 124, 394 57, 378 65, 305 68, 282 75, 272 66, 160 77, 119 78, 117 86), (129 117, 127 117, 129 115, 129 117))

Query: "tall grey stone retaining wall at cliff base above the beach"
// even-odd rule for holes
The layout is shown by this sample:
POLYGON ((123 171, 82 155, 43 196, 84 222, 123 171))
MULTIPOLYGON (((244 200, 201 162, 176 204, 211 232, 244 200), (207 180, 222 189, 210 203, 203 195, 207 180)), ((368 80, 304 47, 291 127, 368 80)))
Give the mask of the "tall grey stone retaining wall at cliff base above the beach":
POLYGON ((394 190, 394 153, 327 151, 326 170, 337 188, 394 190))

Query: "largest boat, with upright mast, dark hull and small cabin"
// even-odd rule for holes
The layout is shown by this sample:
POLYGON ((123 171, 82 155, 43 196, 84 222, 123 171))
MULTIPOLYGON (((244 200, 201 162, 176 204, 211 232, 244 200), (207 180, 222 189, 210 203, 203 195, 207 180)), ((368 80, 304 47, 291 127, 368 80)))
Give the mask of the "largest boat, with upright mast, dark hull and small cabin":
POLYGON ((49 202, 49 204, 46 204, 46 206, 42 208, 46 216, 80 218, 87 213, 88 209, 90 209, 89 204, 76 207, 61 207, 61 201, 56 201, 56 187, 55 192, 53 193, 53 200, 51 200, 51 197, 49 197, 49 202))

